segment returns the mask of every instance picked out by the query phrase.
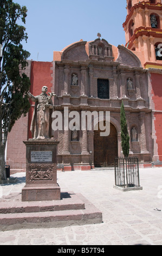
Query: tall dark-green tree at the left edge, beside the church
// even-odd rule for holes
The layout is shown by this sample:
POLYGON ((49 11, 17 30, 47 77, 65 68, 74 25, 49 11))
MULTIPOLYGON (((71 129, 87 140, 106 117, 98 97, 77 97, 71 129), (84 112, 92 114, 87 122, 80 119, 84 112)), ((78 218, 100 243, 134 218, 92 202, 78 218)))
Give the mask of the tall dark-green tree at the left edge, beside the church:
POLYGON ((0 0, 0 180, 6 179, 5 146, 8 132, 30 108, 27 92, 30 80, 24 74, 30 56, 21 42, 27 42, 25 17, 27 8, 12 0, 0 0), (18 25, 21 21, 22 25, 18 25))

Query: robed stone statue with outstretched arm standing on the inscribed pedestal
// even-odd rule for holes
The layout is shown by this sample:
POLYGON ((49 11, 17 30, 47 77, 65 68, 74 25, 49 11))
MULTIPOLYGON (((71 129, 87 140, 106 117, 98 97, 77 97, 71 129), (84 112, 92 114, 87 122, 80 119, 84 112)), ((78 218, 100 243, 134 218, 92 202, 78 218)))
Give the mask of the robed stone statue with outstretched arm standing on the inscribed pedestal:
POLYGON ((33 139, 47 139, 49 137, 49 109, 53 109, 51 97, 54 93, 47 95, 47 86, 42 87, 42 93, 33 96, 28 93, 28 97, 35 102, 33 118, 31 120, 30 131, 33 139))

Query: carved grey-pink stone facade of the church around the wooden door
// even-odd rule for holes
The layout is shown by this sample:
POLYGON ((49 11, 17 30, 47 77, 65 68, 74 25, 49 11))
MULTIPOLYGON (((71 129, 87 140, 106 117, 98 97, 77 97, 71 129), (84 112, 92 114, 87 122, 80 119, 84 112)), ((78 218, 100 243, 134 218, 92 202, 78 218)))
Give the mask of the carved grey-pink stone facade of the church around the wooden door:
MULTIPOLYGON (((112 46, 105 39, 100 38, 91 42, 82 40, 75 42, 59 53, 54 52, 54 60, 50 65, 51 80, 47 84, 48 92, 57 95, 53 102, 54 111, 59 111, 63 120, 64 109, 67 111, 66 114, 77 111, 80 124, 83 111, 96 112, 98 117, 100 112, 104 112, 100 121, 105 121, 105 113, 110 112, 111 125, 107 137, 100 136, 100 125, 98 131, 94 129, 99 123, 94 116, 92 116, 92 129, 86 127, 86 130, 82 130, 80 124, 75 123, 75 127, 80 127, 77 131, 52 130, 52 137, 60 142, 57 162, 64 165, 64 170, 90 170, 99 166, 113 166, 114 157, 122 155, 120 133, 122 101, 130 135, 129 156, 138 156, 140 163, 151 162, 153 141, 151 136, 146 136, 151 135, 152 132, 148 72, 142 68, 138 57, 126 47, 112 46), (137 132, 136 139, 134 137, 132 139, 134 129, 137 132)), ((33 70, 32 73, 34 72, 36 74, 33 70)), ((49 73, 47 76, 49 77, 49 73)), ((37 95, 43 84, 40 80, 38 88, 35 86, 35 81, 33 80, 31 85, 31 93, 37 95)), ((31 112, 28 138, 31 137, 29 131, 31 112)), ((72 117, 69 118, 70 120, 72 117)), ((50 175, 47 173, 44 176, 41 170, 39 175, 41 176, 32 172, 31 178, 50 179, 50 175)))

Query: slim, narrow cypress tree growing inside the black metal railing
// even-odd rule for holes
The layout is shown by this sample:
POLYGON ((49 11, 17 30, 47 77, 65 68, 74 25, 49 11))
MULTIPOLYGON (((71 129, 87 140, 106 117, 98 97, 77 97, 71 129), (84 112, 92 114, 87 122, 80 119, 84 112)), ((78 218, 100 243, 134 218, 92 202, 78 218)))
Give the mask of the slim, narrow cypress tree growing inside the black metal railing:
POLYGON ((121 147, 125 157, 129 155, 129 134, 127 130, 127 121, 124 109, 124 103, 122 101, 120 108, 120 126, 121 126, 121 147))

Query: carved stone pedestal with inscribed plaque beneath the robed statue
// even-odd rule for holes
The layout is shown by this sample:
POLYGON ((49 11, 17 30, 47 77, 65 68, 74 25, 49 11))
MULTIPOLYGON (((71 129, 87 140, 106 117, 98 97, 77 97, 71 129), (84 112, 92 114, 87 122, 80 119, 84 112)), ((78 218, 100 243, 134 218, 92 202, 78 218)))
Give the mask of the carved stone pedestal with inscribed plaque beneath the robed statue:
POLYGON ((22 201, 60 200, 57 184, 56 149, 59 142, 53 139, 30 139, 26 145, 26 184, 22 201))

